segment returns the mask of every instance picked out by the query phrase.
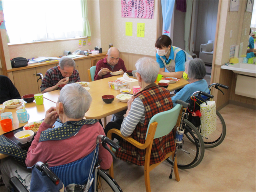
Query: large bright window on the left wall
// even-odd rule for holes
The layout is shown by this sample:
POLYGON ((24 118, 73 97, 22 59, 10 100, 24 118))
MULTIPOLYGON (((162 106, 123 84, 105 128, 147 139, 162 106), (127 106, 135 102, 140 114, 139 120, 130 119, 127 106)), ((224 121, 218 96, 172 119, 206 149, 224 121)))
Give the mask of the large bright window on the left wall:
POLYGON ((80 0, 2 0, 11 43, 82 36, 80 0))

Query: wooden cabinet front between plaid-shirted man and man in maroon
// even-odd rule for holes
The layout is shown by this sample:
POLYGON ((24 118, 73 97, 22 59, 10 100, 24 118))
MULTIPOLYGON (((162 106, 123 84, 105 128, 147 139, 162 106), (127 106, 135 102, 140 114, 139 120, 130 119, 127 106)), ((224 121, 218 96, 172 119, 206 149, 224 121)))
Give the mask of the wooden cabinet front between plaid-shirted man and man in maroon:
POLYGON ((76 60, 76 69, 79 72, 81 81, 89 82, 87 70, 91 68, 91 59, 76 60))

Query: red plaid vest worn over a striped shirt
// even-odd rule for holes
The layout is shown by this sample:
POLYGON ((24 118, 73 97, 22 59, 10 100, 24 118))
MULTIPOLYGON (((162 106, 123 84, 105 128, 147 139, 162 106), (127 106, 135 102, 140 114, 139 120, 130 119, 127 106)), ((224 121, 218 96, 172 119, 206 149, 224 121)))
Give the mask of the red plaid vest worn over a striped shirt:
MULTIPOLYGON (((152 86, 146 90, 142 90, 136 95, 136 97, 140 98, 144 104, 145 122, 144 124, 139 123, 136 126, 131 137, 144 144, 150 119, 155 114, 170 110, 173 107, 173 104, 170 92, 166 88, 158 86, 152 86)), ((119 144, 122 146, 122 149, 120 152, 116 152, 117 158, 139 166, 144 165, 146 149, 140 150, 123 139, 120 140, 119 144)), ((154 139, 150 156, 150 164, 161 162, 164 160, 166 154, 173 150, 175 150, 173 131, 166 136, 154 139)))

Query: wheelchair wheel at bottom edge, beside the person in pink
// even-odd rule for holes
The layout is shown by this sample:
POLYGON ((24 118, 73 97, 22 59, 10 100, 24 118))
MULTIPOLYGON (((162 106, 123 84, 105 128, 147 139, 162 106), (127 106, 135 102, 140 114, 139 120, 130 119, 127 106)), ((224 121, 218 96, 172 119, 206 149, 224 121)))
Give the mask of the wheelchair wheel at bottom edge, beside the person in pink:
POLYGON ((97 191, 113 191, 113 192, 122 192, 122 189, 117 184, 117 182, 105 171, 98 170, 97 179, 97 191), (98 188, 99 187, 99 188, 98 188))

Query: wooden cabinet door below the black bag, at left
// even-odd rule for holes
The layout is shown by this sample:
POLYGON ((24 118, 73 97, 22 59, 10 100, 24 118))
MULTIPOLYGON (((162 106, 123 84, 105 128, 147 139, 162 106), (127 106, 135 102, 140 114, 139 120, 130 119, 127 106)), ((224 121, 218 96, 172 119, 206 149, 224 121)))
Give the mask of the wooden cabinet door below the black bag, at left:
POLYGON ((14 71, 12 74, 15 87, 18 89, 21 97, 26 94, 39 93, 36 78, 36 68, 14 71))

